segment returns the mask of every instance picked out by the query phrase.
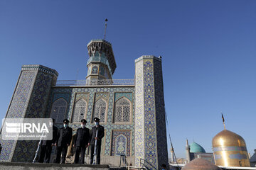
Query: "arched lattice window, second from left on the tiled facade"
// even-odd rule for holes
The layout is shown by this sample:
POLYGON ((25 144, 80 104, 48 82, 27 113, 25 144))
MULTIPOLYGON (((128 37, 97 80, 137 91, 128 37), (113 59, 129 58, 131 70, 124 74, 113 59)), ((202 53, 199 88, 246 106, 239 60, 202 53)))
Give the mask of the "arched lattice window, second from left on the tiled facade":
POLYGON ((84 99, 80 99, 79 101, 75 102, 72 123, 80 123, 80 121, 85 118, 86 105, 87 103, 84 99))

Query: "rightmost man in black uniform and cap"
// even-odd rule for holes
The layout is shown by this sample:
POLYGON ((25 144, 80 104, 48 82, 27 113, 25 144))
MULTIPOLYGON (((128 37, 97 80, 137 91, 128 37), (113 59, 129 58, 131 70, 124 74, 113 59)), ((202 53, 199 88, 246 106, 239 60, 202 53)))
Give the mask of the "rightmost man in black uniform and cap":
POLYGON ((90 134, 90 151, 91 151, 91 157, 90 157, 90 164, 93 162, 93 154, 95 151, 96 147, 96 156, 97 156, 97 162, 96 164, 100 164, 100 149, 101 149, 101 142, 102 142, 102 137, 104 137, 104 127, 100 125, 100 119, 99 118, 94 118, 95 120, 95 126, 92 127, 92 131, 90 134), (96 137, 96 132, 97 132, 97 137, 96 137), (97 144, 95 145, 95 140, 97 140, 97 144))

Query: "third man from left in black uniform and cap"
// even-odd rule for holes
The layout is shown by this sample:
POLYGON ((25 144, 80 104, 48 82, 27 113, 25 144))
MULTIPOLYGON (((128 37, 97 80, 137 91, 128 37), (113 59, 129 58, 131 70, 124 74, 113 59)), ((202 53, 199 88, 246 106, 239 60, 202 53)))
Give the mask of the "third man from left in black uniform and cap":
POLYGON ((88 147, 90 140, 90 130, 85 128, 87 121, 81 120, 81 128, 78 128, 75 135, 74 146, 75 147, 75 161, 74 164, 85 164, 85 149, 88 147), (79 159, 80 155, 80 159, 79 159))

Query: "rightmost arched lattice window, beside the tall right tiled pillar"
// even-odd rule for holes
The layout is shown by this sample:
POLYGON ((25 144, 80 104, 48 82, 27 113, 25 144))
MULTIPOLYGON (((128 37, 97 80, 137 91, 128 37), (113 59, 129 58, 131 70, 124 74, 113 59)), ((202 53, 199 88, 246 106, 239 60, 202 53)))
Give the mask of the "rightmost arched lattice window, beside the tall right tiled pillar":
POLYGON ((127 98, 119 98, 114 107, 114 123, 129 123, 131 103, 127 98))

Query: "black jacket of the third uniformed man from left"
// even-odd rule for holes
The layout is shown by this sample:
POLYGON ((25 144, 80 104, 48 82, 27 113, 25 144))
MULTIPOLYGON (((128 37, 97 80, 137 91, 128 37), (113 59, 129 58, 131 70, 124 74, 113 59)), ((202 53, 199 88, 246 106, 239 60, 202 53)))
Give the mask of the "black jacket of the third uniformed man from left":
POLYGON ((88 128, 78 128, 75 135, 75 147, 85 147, 90 140, 90 130, 88 128))

